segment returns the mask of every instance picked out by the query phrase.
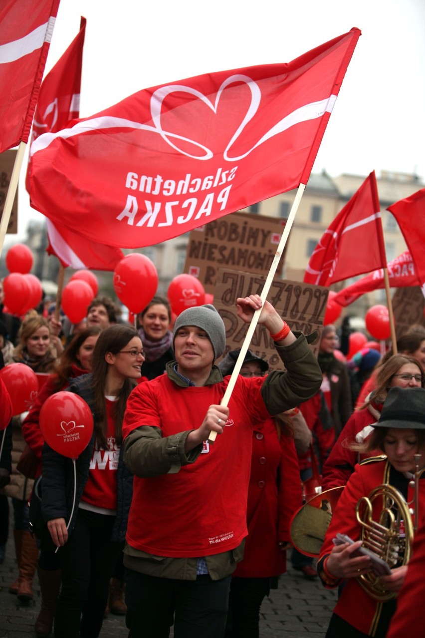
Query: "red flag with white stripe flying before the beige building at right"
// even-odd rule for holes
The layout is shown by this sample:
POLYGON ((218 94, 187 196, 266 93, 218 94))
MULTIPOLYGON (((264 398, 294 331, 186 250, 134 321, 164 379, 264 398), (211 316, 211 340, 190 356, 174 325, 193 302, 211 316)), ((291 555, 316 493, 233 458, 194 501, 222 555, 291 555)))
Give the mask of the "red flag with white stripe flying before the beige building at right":
POLYGON ((304 281, 330 286, 387 265, 375 171, 338 213, 313 251, 304 281))

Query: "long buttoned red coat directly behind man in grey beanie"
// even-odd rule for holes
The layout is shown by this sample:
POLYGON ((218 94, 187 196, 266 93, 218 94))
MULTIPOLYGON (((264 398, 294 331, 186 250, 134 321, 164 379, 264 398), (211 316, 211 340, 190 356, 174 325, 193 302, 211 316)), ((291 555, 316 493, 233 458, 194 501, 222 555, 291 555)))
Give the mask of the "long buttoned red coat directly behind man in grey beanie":
POLYGON ((301 507, 301 482, 293 438, 280 436, 273 419, 254 429, 248 488, 247 527, 243 561, 234 576, 266 578, 286 571, 289 522, 301 507))

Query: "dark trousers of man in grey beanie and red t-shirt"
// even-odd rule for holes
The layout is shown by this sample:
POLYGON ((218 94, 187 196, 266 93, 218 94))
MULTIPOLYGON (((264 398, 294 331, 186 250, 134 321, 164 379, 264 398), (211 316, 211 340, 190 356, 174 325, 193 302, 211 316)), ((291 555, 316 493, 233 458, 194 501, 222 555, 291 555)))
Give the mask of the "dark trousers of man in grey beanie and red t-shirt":
POLYGON ((231 576, 212 581, 173 580, 126 569, 128 638, 222 638, 226 627, 231 576))

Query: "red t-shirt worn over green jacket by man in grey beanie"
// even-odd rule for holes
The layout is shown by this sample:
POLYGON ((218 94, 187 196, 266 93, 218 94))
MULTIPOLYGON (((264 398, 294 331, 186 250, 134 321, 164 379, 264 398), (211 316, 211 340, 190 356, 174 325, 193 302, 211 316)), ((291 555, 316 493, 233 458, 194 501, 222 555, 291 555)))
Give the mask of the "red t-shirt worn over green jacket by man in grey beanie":
MULTIPOLYGON (((203 387, 179 387, 167 375, 136 387, 127 402, 123 436, 154 426, 162 436, 197 429, 211 404, 219 404, 230 377, 203 387)), ((263 378, 238 377, 229 419, 215 443, 205 443, 195 463, 178 473, 134 477, 127 526, 131 547, 157 556, 198 557, 237 547, 247 535, 247 491, 252 427, 270 415, 261 396, 263 378)))

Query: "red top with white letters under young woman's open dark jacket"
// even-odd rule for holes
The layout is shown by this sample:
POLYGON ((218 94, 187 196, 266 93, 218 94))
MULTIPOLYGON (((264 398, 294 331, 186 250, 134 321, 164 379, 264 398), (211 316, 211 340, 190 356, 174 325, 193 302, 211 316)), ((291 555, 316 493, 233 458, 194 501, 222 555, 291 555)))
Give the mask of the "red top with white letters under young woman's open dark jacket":
POLYGON ((99 449, 94 444, 90 461, 89 479, 85 484, 81 500, 94 507, 106 510, 117 509, 117 468, 120 446, 115 443, 115 422, 112 418, 112 407, 115 403, 105 397, 106 419, 108 426, 108 449, 99 449))

